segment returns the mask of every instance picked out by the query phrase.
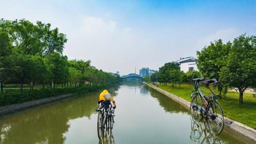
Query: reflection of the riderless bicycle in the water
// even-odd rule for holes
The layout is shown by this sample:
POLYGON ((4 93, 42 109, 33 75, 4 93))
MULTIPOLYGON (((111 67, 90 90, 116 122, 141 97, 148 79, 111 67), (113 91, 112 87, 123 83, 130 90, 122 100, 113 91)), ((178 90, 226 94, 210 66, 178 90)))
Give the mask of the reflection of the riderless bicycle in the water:
POLYGON ((202 122, 196 122, 192 118, 191 120, 191 135, 190 139, 198 144, 221 144, 219 138, 215 136, 208 126, 208 123, 203 120, 202 122))

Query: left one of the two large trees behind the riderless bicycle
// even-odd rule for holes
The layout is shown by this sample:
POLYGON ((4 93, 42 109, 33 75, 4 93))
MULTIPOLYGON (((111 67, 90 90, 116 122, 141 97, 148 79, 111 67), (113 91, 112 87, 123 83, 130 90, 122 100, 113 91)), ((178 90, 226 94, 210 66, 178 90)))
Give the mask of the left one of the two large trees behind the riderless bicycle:
MULTIPOLYGON (((201 52, 197 51, 197 66, 202 76, 216 78, 217 80, 220 79, 220 69, 226 64, 231 46, 231 42, 223 44, 222 40, 219 39, 214 43, 211 42, 210 46, 203 48, 201 52)), ((222 89, 223 84, 220 82, 218 84, 220 94, 222 89)))

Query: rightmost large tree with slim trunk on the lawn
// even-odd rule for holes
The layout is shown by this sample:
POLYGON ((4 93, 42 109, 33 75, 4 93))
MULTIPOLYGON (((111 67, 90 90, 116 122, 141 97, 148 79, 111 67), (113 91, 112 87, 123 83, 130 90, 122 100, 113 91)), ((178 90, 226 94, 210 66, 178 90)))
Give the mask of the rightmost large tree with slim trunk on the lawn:
POLYGON ((221 79, 226 86, 238 88, 242 104, 244 90, 256 85, 256 36, 243 34, 234 39, 221 79))

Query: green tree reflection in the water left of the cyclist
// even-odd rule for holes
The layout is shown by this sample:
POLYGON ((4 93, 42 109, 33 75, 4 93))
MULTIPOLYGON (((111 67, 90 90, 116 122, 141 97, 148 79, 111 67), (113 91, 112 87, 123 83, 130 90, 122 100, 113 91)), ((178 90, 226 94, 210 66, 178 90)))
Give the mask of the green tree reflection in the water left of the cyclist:
MULTIPOLYGON (((118 95, 119 86, 109 88, 112 96, 118 95)), ((69 120, 95 114, 98 95, 101 91, 84 96, 66 98, 59 102, 23 110, 0 117, 0 144, 62 144, 65 132, 70 128, 69 120)))

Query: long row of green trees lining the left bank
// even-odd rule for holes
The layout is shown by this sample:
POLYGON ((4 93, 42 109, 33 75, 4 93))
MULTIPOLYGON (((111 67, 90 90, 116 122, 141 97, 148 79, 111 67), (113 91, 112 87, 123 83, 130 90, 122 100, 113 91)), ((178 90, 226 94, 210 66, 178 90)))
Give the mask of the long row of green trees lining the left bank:
POLYGON ((113 84, 118 77, 91 66, 91 61, 63 56, 65 34, 51 24, 0 20, 0 80, 5 84, 113 84))

